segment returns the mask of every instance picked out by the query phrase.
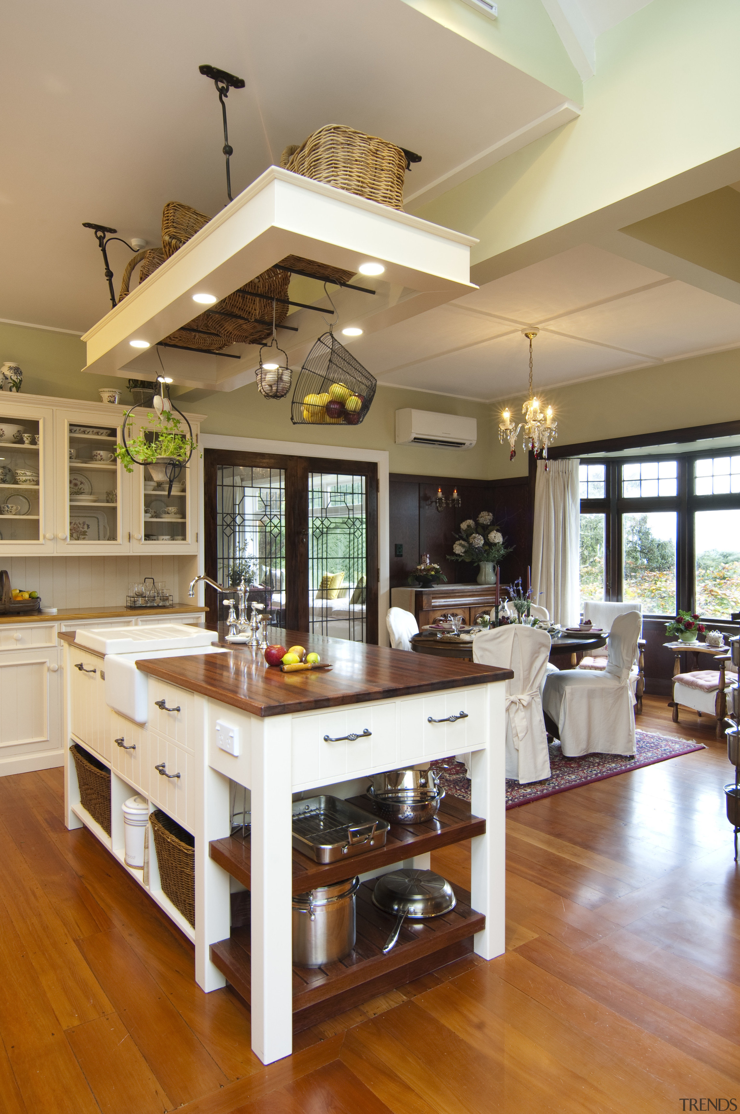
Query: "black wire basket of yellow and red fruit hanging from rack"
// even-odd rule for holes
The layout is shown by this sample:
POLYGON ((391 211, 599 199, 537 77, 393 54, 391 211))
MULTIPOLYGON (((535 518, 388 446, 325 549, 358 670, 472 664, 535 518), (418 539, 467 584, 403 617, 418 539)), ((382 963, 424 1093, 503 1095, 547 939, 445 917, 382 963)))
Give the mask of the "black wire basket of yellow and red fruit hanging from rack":
POLYGON ((291 403, 294 426, 359 426, 378 381, 334 336, 331 325, 309 352, 291 403))

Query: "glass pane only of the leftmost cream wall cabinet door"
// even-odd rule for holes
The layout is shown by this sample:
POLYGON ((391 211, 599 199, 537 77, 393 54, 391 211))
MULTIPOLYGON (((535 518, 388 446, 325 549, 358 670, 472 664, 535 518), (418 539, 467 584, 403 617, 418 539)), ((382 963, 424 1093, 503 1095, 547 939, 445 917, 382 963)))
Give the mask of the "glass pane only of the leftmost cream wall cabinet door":
MULTIPOLYGON (((0 403, 0 541, 41 541, 42 422, 11 417, 0 403)), ((17 546, 14 547, 17 548, 17 546)))

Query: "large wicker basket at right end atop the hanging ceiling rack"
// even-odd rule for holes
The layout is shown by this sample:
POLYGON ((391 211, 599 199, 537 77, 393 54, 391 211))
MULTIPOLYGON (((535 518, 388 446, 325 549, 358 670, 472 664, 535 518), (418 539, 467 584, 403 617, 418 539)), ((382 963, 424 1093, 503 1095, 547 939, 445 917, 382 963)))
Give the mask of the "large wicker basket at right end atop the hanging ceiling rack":
POLYGON ((286 147, 280 165, 368 201, 403 208, 406 155, 387 139, 327 124, 300 147, 286 147))

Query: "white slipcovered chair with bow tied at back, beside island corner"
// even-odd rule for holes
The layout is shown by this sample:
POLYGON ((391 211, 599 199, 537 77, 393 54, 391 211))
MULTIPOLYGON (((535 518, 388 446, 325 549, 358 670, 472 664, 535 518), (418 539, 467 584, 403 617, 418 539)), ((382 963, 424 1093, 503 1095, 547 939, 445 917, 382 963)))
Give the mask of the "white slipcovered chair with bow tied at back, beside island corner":
POLYGON ((539 690, 551 639, 535 627, 497 627, 476 635, 473 661, 514 671, 506 681, 506 776, 526 784, 549 778, 549 751, 539 690))

